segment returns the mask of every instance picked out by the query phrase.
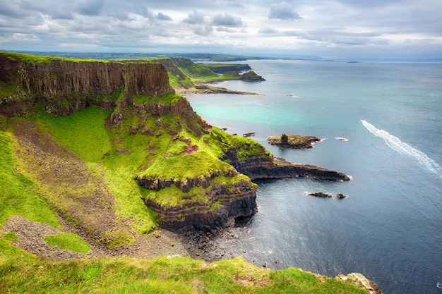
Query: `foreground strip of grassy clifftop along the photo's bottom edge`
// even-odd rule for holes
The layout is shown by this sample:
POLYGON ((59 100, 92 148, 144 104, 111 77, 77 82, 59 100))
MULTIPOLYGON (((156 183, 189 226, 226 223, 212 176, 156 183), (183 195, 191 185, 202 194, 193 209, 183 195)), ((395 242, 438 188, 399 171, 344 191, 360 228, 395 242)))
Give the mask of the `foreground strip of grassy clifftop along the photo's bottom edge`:
POLYGON ((184 257, 66 262, 0 256, 2 293, 367 293, 299 269, 261 269, 242 258, 206 263, 184 257))

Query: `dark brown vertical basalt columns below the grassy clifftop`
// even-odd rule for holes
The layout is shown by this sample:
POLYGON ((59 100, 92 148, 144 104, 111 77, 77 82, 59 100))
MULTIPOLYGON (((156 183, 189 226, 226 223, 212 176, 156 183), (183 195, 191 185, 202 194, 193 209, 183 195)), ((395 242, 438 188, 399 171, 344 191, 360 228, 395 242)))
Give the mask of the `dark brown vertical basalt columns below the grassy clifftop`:
POLYGON ((174 92, 165 67, 159 63, 65 60, 30 63, 13 61, 0 54, 0 67, 3 68, 0 81, 20 89, 9 99, 3 99, 4 104, 46 102, 47 111, 56 115, 71 114, 90 104, 114 106, 116 99, 102 97, 120 92, 126 96, 174 92))

